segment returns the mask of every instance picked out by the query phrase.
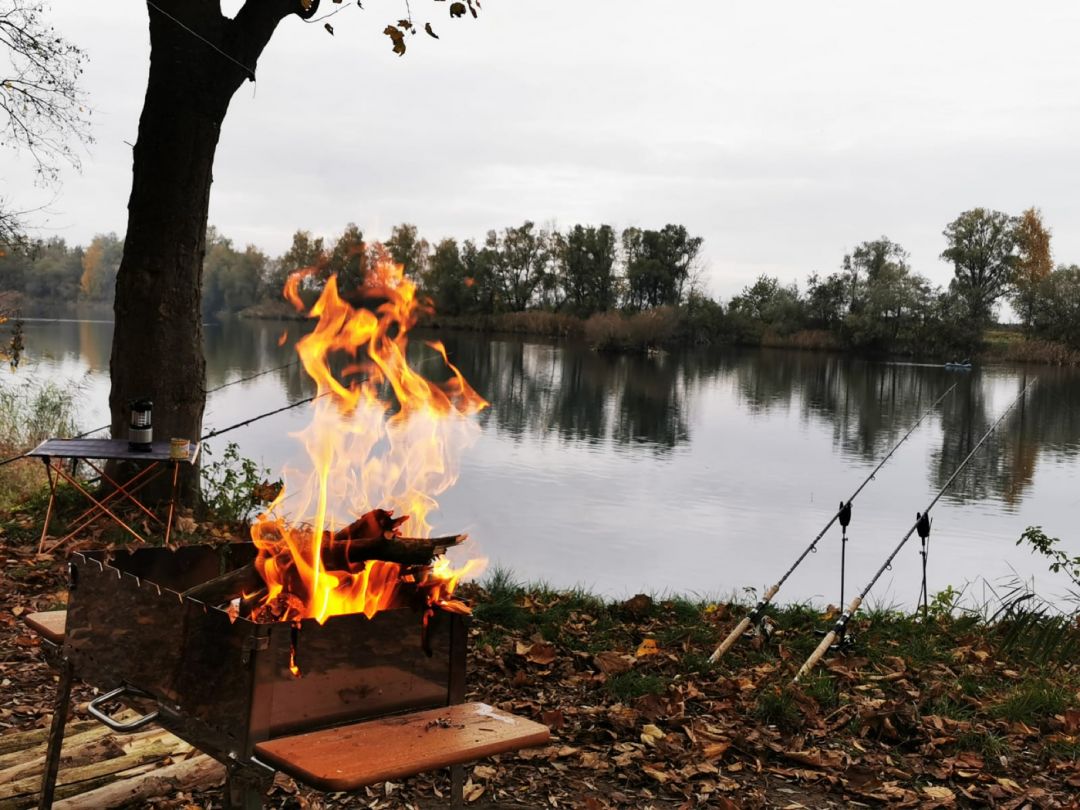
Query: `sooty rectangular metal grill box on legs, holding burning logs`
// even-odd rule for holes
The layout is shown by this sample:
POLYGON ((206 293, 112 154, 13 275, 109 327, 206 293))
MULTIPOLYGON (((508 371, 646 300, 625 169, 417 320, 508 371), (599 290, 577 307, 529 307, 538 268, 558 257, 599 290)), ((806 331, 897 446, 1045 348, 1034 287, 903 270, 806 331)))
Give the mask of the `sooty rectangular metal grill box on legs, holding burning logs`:
MULTIPOLYGON (((467 617, 436 607, 423 621, 422 611, 406 607, 370 619, 336 616, 323 624, 257 623, 184 595, 254 556, 251 543, 71 555, 66 625, 63 638, 55 636, 63 647, 53 651, 63 677, 42 806, 51 800, 72 677, 104 690, 90 712, 110 728, 131 731, 156 721, 224 762, 227 800, 244 808, 261 806, 274 770, 305 778, 302 768, 291 770, 288 756, 274 752, 275 742, 369 728, 372 718, 464 700, 467 617), (120 721, 105 710, 110 701, 139 711, 149 703, 151 711, 120 721)), ((546 739, 539 724, 498 714, 501 724, 518 724, 516 744, 480 745, 456 761, 546 739)), ((482 723, 478 731, 505 734, 501 724, 482 723)), ((460 768, 453 774, 457 794, 460 768)))

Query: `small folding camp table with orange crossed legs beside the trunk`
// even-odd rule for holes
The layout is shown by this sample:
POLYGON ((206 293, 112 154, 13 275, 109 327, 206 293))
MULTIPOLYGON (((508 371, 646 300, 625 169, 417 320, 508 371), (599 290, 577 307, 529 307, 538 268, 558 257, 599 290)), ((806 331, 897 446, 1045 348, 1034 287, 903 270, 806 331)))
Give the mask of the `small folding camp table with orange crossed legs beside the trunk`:
MULTIPOLYGON (((63 545, 77 534, 90 526, 100 517, 109 517, 119 526, 126 529, 139 542, 146 542, 146 538, 133 529, 119 514, 117 504, 123 500, 130 501, 148 517, 158 523, 163 523, 165 527, 165 543, 173 528, 173 515, 176 511, 176 496, 180 480, 180 465, 194 464, 199 457, 199 443, 191 442, 188 445, 186 458, 172 458, 170 455, 170 442, 153 442, 149 450, 133 450, 126 438, 49 438, 35 447, 27 456, 40 458, 45 462, 49 475, 49 507, 45 509, 45 521, 41 527, 41 540, 38 543, 38 551, 52 551, 63 545), (75 476, 75 467, 71 471, 65 469, 64 461, 67 459, 76 462, 82 461, 94 472, 102 476, 102 481, 107 483, 111 489, 98 497, 87 489, 75 476), (123 461, 135 465, 135 472, 127 477, 117 481, 105 471, 102 461, 123 461), (97 462, 97 463, 95 463, 97 462), (168 497, 168 513, 164 521, 154 514, 153 510, 143 503, 136 495, 151 481, 158 478, 162 473, 172 470, 173 486, 168 497), (53 507, 56 502, 56 485, 60 480, 68 482, 79 490, 90 502, 91 507, 73 519, 75 528, 67 535, 45 548, 45 538, 49 535, 49 522, 53 514, 53 507), (111 508, 110 508, 111 504, 111 508)), ((131 469, 126 463, 121 469, 131 469)), ((126 475, 126 473, 125 473, 126 475)), ((118 476, 119 477, 119 476, 118 476)))

